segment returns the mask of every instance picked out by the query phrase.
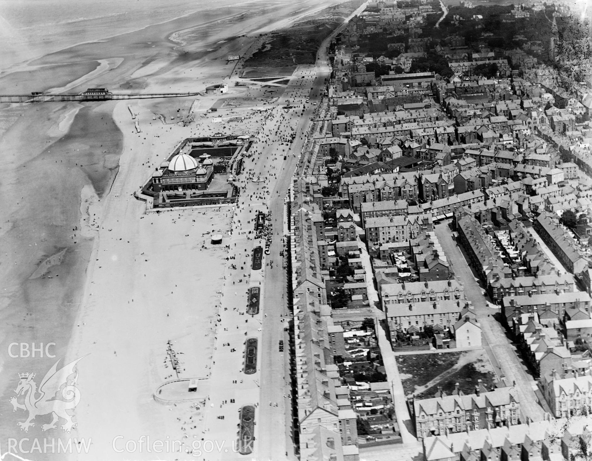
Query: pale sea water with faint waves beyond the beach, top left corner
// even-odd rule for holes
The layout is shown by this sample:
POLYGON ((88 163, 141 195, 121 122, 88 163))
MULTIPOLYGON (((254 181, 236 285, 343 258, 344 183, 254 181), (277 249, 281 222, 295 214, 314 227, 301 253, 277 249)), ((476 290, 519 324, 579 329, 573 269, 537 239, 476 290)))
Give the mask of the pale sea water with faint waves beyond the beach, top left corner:
POLYGON ((14 0, 0 2, 0 72, 78 43, 139 30, 230 0, 14 0))

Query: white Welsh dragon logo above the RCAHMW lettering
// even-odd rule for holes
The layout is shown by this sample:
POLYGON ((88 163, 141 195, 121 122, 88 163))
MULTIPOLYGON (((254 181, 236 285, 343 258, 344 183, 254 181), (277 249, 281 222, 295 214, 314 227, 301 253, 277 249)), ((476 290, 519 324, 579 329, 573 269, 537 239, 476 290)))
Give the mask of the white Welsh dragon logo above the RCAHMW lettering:
POLYGON ((17 411, 20 408, 29 412, 26 421, 17 423, 21 431, 28 432, 30 427, 35 426, 33 420, 37 416, 50 413, 53 414, 53 421, 50 424, 42 424, 41 430, 57 429, 60 418, 66 420, 66 423, 60 426, 64 432, 70 433, 72 428, 76 427, 78 423, 72 421, 72 416, 67 414, 66 411, 72 410, 80 402, 80 391, 76 387, 78 384, 78 370, 75 370, 74 367, 83 357, 68 363, 59 370, 57 364, 62 359, 57 360, 41 380, 38 389, 37 383, 33 381, 36 373, 18 373, 20 381, 17 388, 14 389, 17 395, 10 398, 9 402, 14 407, 12 411, 17 411), (71 378, 74 374, 76 376, 71 378), (24 396, 24 399, 21 398, 22 396, 24 396))

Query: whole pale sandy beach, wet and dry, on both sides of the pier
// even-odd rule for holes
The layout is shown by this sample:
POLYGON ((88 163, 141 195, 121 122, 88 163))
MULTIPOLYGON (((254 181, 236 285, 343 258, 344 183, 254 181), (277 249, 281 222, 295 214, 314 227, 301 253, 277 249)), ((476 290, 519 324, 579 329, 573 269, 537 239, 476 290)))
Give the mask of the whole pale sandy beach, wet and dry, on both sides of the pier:
MULTIPOLYGON (((188 14, 20 62, 14 73, 0 76, 0 85, 17 93, 94 86, 203 91, 229 76, 234 65, 227 63, 227 54, 256 49, 262 38, 248 34, 285 27, 284 18, 295 11, 300 18, 318 11, 318 4, 253 2, 248 8, 239 4, 188 14)), ((0 180, 2 452, 11 438, 76 437, 92 444, 88 453, 74 453, 71 459, 155 459, 146 452, 114 454, 113 440, 193 437, 184 424, 189 416, 203 429, 195 402, 170 408, 154 394, 172 374, 168 341, 181 357, 182 378, 208 375, 229 256, 225 244, 210 245, 210 235, 230 237, 234 208, 145 214, 146 204, 132 194, 185 137, 255 134, 263 120, 253 111, 256 100, 284 91, 283 86, 261 86, 232 84, 223 98, 0 107, 5 171, 0 180), (214 104, 221 123, 212 115, 201 118, 214 104), (178 118, 189 115, 190 108, 196 122, 184 127, 178 118), (247 118, 229 122, 236 115, 247 118), (21 346, 10 349, 13 357, 11 343, 55 343, 53 357, 18 354, 21 346), (81 401, 74 412, 78 427, 66 434, 60 427, 42 431, 52 418, 40 414, 28 433, 21 432, 17 421, 24 421, 27 412, 13 412, 9 403, 18 373, 35 372, 38 384, 60 357, 62 364, 83 357, 78 363, 81 401)), ((176 459, 173 455, 164 459, 176 459)), ((32 459, 64 457, 41 450, 32 459)))

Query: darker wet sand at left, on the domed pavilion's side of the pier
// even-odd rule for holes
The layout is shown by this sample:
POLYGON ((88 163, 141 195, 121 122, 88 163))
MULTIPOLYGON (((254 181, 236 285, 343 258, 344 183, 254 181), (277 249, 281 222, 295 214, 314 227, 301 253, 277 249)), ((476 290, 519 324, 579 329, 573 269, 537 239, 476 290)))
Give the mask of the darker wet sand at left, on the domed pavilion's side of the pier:
POLYGON ((81 190, 91 183, 104 194, 117 171, 121 133, 111 118, 114 104, 82 107, 65 136, 67 115, 76 104, 28 107, 4 133, 5 145, 25 149, 7 152, 8 174, 0 182, 0 206, 5 210, 0 223, 0 366, 6 397, 0 412, 11 416, 0 423, 3 437, 22 437, 15 420, 24 417, 13 414, 8 403, 17 373, 38 370, 42 378, 42 370, 67 353, 94 240, 92 234, 81 235, 81 190), (31 278, 48 257, 59 253, 55 264, 31 278), (53 342, 51 352, 57 357, 9 357, 12 342, 53 342))

